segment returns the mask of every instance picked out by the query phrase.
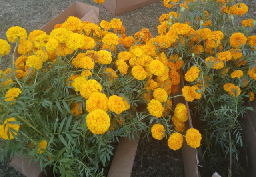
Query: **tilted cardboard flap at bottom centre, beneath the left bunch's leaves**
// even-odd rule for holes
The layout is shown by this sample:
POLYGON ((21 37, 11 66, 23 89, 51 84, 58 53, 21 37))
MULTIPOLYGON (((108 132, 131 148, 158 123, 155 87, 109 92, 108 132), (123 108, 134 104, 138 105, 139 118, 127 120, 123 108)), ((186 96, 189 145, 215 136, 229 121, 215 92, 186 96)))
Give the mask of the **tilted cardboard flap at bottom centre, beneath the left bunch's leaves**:
POLYGON ((139 139, 136 136, 135 141, 129 141, 124 137, 119 139, 108 177, 130 177, 138 143, 139 139))

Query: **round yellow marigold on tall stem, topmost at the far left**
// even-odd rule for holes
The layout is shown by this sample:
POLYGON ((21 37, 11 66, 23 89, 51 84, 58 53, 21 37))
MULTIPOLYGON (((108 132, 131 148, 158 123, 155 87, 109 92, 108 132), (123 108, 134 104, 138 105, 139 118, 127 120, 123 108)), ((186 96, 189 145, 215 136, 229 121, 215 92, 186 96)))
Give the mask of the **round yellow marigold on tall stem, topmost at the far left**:
POLYGON ((16 39, 18 38, 18 42, 23 42, 27 38, 27 32, 24 28, 21 28, 20 26, 12 26, 9 28, 6 32, 7 40, 15 43, 16 39))

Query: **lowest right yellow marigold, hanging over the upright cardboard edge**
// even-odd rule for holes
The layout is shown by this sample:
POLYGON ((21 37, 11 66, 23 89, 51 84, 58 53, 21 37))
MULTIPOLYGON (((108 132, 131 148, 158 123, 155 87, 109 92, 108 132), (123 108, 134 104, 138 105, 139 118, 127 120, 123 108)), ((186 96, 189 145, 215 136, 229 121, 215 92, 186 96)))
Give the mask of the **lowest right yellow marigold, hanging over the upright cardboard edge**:
POLYGON ((185 137, 186 137, 186 141, 190 147, 196 149, 200 146, 202 136, 197 129, 194 129, 194 128, 188 129, 185 137))

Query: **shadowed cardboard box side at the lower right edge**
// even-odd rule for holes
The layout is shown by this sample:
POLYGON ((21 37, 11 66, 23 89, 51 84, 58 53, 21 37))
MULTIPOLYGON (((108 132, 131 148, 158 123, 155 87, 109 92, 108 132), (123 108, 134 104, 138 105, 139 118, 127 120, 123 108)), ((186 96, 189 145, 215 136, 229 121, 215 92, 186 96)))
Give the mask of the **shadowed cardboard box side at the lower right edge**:
MULTIPOLYGON (((247 100, 245 101, 247 102, 247 100)), ((256 99, 251 102, 251 105, 248 103, 246 106, 253 107, 256 110, 256 99)), ((246 111, 246 117, 239 118, 239 121, 242 123, 242 140, 243 144, 247 145, 246 153, 248 155, 249 167, 247 167, 245 155, 241 155, 242 164, 245 166, 245 176, 246 177, 256 177, 256 112, 255 111, 246 111)))

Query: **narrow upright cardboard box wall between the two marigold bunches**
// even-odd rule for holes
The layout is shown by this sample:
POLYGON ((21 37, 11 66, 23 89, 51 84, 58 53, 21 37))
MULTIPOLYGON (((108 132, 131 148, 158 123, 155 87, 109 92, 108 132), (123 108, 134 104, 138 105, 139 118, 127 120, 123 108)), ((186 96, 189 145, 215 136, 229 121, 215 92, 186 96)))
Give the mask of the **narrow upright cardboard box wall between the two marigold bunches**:
MULTIPOLYGON (((181 95, 182 94, 181 89, 183 87, 184 87, 184 80, 181 80, 181 83, 178 85, 178 91, 177 91, 177 93, 175 93, 175 95, 181 95)), ((178 103, 183 103, 183 104, 187 105, 187 108, 188 108, 189 118, 188 118, 188 121, 185 123, 185 130, 182 133, 183 135, 185 135, 186 131, 189 128, 193 127, 190 110, 188 107, 188 101, 185 101, 185 99, 183 97, 175 97, 174 98, 174 105, 177 105, 178 103)), ((184 164, 185 177, 199 177, 200 176, 199 171, 198 171, 199 160, 198 160, 197 149, 190 147, 187 144, 186 140, 184 139, 181 151, 182 151, 182 159, 183 159, 183 164, 184 164)))

